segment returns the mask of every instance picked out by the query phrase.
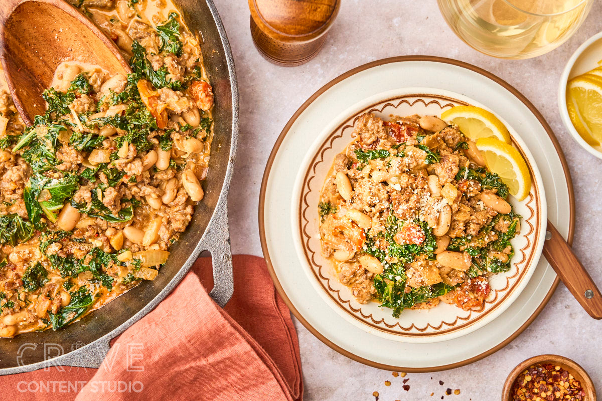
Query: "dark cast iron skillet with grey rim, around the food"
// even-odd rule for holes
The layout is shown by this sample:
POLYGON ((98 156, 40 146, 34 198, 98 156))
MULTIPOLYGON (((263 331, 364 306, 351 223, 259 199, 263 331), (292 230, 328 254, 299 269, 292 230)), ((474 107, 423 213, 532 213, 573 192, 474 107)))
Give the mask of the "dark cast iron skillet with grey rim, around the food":
MULTIPOLYGON (((149 313, 182 280, 202 251, 213 257, 211 297, 221 306, 232 296, 228 190, 238 137, 238 89, 232 52, 213 1, 177 0, 191 32, 199 34, 215 94, 214 139, 203 187, 205 198, 155 281, 143 281, 113 302, 60 331, 30 332, 0 339, 0 375, 46 366, 99 367, 109 341, 149 313)), ((182 322, 185 324, 185 322, 182 322)), ((177 330, 178 328, 174 328, 177 330)))

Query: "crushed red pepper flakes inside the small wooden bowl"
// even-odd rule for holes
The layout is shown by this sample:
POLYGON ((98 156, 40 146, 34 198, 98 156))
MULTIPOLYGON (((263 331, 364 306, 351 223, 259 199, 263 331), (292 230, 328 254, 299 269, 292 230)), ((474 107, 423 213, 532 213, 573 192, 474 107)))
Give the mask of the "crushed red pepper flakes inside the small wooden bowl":
POLYGON ((512 386, 513 401, 581 401, 581 383, 560 366, 535 364, 523 371, 512 386))

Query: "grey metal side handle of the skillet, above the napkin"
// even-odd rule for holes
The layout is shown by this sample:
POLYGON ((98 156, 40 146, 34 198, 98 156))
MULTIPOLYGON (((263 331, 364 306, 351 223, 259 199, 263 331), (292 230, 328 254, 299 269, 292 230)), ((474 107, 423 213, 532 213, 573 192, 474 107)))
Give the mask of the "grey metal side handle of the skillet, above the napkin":
POLYGON ((213 262, 213 289, 209 296, 220 307, 232 297, 234 292, 234 277, 232 275, 232 250, 230 248, 230 233, 228 231, 228 197, 220 197, 213 219, 209 222, 202 240, 204 249, 211 253, 213 262))

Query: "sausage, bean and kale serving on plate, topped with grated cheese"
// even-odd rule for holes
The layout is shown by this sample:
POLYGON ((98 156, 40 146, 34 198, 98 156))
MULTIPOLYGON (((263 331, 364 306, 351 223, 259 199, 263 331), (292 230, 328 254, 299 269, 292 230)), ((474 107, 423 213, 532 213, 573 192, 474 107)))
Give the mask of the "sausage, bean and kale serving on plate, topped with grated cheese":
MULTIPOLYGON (((322 253, 361 304, 479 308, 520 216, 475 142, 433 116, 358 118, 320 195, 322 253)), ((495 139, 497 141, 497 139, 495 139)))

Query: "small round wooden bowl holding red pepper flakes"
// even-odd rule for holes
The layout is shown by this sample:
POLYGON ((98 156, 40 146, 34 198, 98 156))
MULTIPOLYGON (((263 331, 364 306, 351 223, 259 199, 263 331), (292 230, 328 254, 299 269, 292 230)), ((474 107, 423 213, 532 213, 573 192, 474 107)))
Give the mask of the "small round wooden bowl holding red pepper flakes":
POLYGON ((569 360, 569 358, 566 357, 561 357, 560 355, 538 355, 537 357, 529 358, 518 364, 517 367, 510 372, 506 382, 504 382, 504 390, 501 392, 501 401, 512 401, 512 386, 514 386, 514 382, 518 378, 518 375, 523 373, 528 367, 541 363, 551 363, 567 370, 583 387, 583 391, 585 391, 583 401, 596 401, 596 389, 588 372, 585 372, 585 369, 579 366, 575 361, 569 360))

